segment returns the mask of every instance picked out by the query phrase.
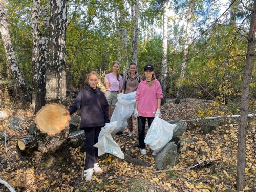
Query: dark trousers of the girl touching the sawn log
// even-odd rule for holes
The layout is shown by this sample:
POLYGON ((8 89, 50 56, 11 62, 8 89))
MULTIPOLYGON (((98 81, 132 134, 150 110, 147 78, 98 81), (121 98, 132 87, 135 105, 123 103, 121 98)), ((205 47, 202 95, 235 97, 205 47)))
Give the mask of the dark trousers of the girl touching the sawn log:
POLYGON ((98 162, 98 148, 93 145, 98 142, 101 127, 84 128, 86 134, 86 169, 93 168, 98 162))

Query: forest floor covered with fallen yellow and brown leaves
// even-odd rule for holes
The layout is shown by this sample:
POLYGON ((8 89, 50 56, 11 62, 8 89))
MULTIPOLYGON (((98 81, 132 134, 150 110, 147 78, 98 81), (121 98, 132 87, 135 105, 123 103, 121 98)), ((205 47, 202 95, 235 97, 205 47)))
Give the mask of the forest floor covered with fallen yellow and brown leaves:
MULTIPOLYGON (((170 167, 168 172, 156 172, 154 156, 149 148, 147 155, 140 154, 136 147, 137 129, 133 138, 115 135, 114 140, 121 148, 150 166, 135 166, 104 154, 99 157, 103 172, 86 182, 81 178, 84 145, 67 146, 65 153, 58 152, 55 157, 46 155, 40 160, 32 154, 20 154, 16 150, 16 142, 27 134, 27 127, 34 120, 34 115, 30 110, 20 109, 18 104, 13 105, 11 110, 3 106, 0 110, 11 117, 29 118, 20 125, 24 130, 18 133, 7 129, 7 120, 0 122, 0 132, 6 131, 11 136, 6 143, 0 141, 0 179, 7 181, 16 191, 236 191, 239 118, 225 119, 222 126, 208 134, 202 133, 201 121, 189 122, 183 137, 194 138, 195 141, 186 152, 178 154, 178 164, 170 167), (204 154, 199 152, 201 146, 205 147, 204 154), (195 166, 202 161, 204 163, 195 166)), ((182 120, 200 115, 223 115, 223 110, 211 102, 183 99, 180 104, 168 100, 161 112, 165 120, 182 120)), ((244 191, 256 191, 255 122, 255 118, 248 120, 244 191)), ((137 127, 136 119, 134 127, 137 127)), ((9 190, 0 184, 0 191, 9 190)))

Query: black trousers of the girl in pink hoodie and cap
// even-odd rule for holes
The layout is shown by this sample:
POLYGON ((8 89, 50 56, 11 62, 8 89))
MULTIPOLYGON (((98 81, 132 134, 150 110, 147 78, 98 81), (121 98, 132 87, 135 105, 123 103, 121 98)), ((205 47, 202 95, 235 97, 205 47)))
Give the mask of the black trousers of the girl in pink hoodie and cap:
POLYGON ((154 120, 154 117, 140 117, 138 118, 138 124, 139 124, 139 146, 140 148, 146 148, 146 144, 144 142, 145 140, 145 125, 146 125, 146 119, 148 122, 148 127, 150 127, 152 121, 154 120))

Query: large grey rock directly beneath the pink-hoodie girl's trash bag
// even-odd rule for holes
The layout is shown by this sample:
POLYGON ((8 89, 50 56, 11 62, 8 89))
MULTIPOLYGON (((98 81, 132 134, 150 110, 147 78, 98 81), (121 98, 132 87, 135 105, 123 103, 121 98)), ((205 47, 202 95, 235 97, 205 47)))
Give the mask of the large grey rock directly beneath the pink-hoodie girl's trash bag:
POLYGON ((158 152, 155 157, 155 164, 157 170, 167 169, 178 163, 177 145, 173 142, 168 143, 158 152))

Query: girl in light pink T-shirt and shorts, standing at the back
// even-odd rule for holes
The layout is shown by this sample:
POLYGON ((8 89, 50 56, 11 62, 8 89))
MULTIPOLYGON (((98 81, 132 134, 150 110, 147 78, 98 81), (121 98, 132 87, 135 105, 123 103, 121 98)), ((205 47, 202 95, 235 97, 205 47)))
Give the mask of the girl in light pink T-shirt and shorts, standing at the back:
POLYGON ((109 117, 111 118, 111 106, 115 106, 117 102, 117 94, 121 93, 123 86, 123 79, 119 75, 118 70, 120 64, 118 61, 112 63, 112 73, 106 74, 105 85, 106 85, 106 100, 109 104, 109 117))

